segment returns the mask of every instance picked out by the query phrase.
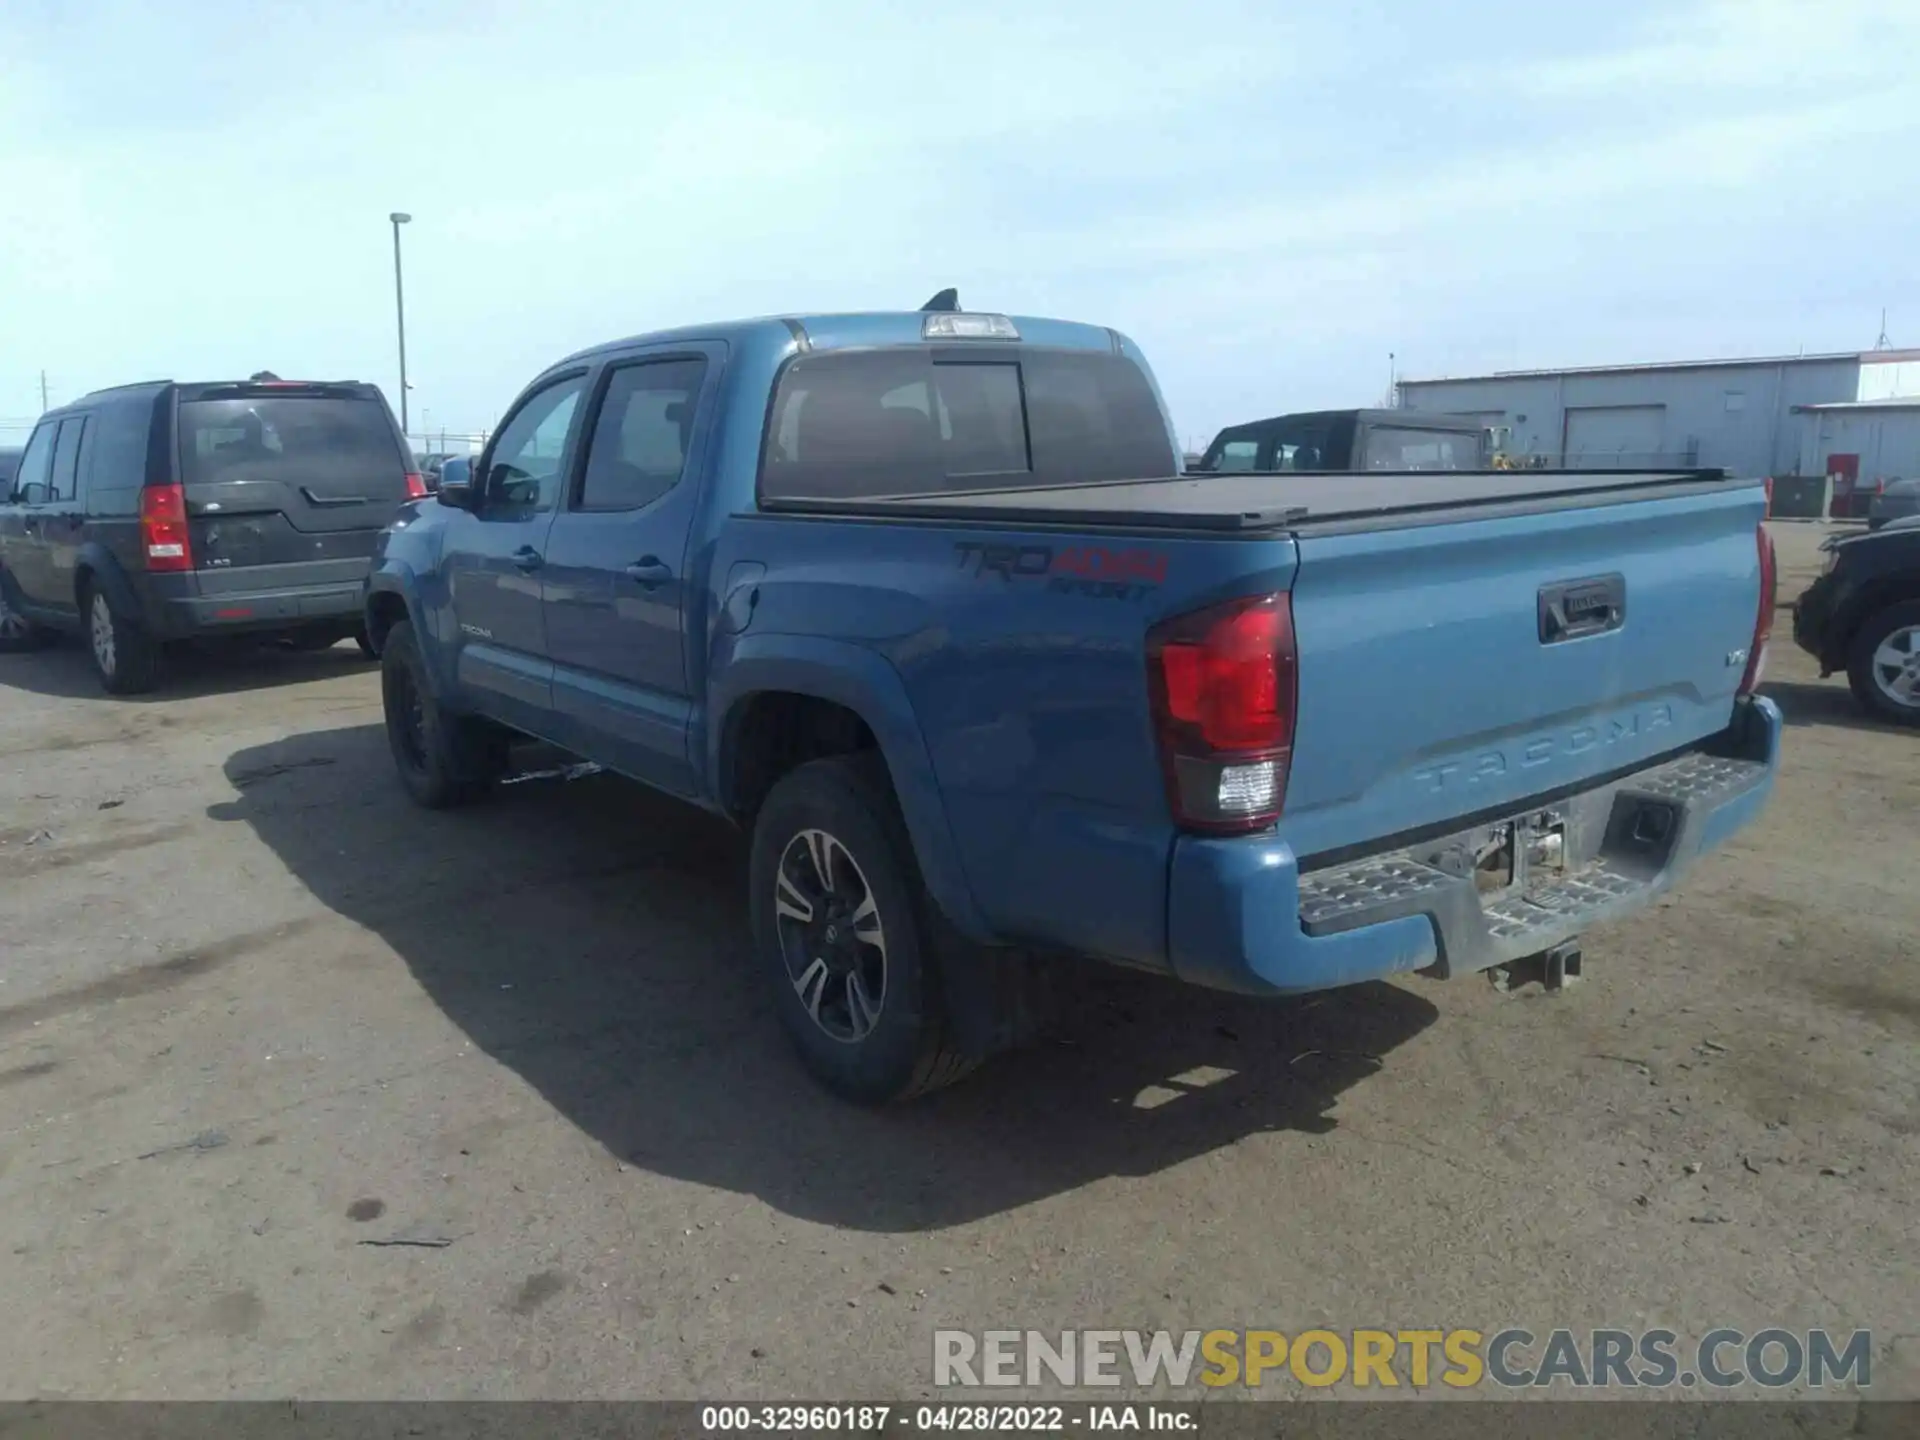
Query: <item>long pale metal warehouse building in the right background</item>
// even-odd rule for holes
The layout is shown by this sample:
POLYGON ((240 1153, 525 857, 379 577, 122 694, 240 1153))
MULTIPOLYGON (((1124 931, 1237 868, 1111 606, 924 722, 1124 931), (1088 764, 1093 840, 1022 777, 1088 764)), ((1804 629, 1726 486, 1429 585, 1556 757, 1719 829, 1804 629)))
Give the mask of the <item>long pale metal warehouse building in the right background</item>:
POLYGON ((1473 415, 1542 465, 1832 474, 1837 513, 1920 474, 1920 349, 1402 380, 1400 405, 1473 415))

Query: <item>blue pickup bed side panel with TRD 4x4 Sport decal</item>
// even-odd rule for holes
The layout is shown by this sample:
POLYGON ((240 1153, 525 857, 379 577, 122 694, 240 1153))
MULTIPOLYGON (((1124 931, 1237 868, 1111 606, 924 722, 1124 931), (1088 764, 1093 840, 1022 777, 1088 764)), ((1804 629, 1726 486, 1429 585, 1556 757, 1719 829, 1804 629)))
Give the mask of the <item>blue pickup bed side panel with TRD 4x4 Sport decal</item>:
POLYGON ((868 645, 899 670, 973 900, 1008 939, 1165 960, 1173 828, 1148 705, 1150 624, 1284 589, 1288 540, 970 530, 762 516, 751 636, 868 645))

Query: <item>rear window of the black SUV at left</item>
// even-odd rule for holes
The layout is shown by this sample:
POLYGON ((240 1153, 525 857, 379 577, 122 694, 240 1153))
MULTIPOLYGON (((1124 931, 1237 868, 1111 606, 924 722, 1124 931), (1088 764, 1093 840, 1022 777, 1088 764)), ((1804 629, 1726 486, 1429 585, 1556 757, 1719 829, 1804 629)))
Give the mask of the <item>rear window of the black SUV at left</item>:
POLYGON ((278 480, 323 499, 407 493, 386 407, 334 396, 180 401, 180 480, 278 480))

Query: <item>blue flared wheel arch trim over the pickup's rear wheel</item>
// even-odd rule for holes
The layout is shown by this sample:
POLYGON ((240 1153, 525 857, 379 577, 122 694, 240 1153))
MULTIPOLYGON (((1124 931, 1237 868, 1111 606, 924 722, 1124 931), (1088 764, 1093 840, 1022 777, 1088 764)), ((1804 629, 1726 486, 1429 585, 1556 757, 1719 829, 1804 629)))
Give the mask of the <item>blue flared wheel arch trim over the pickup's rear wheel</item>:
POLYGON ((960 868, 947 804, 933 778, 925 737, 906 699, 906 685, 881 655, 847 641, 810 636, 741 636, 732 655, 716 657, 710 674, 708 714, 716 724, 707 730, 707 776, 708 791, 722 808, 733 808, 733 797, 728 793, 728 776, 733 768, 733 720, 745 701, 762 691, 789 691, 845 705, 879 741, 927 891, 966 939, 979 945, 996 943, 960 868))

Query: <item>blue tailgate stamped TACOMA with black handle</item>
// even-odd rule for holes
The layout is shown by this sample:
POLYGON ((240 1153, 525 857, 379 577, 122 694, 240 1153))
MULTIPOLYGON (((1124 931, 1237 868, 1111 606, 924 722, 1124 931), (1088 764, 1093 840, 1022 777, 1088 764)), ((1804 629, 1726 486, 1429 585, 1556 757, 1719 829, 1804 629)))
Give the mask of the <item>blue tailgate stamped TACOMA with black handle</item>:
POLYGON ((1759 488, 1298 532, 1281 833, 1315 860, 1584 787, 1724 730, 1759 488))

